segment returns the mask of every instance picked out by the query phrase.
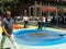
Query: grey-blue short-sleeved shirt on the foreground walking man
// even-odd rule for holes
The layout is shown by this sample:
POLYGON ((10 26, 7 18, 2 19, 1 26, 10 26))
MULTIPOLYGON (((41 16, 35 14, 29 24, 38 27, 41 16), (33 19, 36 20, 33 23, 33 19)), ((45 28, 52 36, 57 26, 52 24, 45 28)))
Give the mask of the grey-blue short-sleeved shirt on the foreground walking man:
MULTIPOLYGON (((4 26, 8 34, 11 35, 12 34, 12 27, 13 27, 13 20, 11 17, 9 20, 7 17, 4 17, 2 20, 2 26, 4 26)), ((4 32, 2 33, 2 35, 6 35, 4 32)))

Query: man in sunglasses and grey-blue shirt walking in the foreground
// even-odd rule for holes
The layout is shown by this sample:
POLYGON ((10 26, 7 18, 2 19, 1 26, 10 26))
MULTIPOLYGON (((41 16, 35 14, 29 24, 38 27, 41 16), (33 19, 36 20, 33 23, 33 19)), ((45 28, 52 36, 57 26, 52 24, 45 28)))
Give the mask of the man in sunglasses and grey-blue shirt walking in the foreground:
POLYGON ((4 45, 4 41, 7 39, 7 37, 11 40, 11 42, 13 44, 14 46, 14 49, 18 49, 18 46, 13 39, 13 36, 12 36, 12 27, 13 27, 13 20, 11 17, 11 11, 7 11, 6 12, 6 17, 2 20, 2 40, 1 40, 1 48, 0 49, 3 49, 3 45, 4 45))

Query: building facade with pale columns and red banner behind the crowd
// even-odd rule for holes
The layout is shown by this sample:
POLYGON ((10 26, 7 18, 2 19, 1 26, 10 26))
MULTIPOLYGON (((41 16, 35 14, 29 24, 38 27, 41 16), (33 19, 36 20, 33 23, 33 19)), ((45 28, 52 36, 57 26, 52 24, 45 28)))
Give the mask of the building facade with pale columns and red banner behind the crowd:
POLYGON ((28 14, 29 16, 66 16, 66 1, 19 0, 19 12, 22 15, 28 14))

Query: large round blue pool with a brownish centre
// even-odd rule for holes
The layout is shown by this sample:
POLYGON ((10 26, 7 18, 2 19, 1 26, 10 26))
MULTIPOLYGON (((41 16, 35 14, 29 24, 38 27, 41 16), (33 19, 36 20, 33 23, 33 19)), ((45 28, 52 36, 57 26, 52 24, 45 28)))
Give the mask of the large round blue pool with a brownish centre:
POLYGON ((66 42, 62 32, 50 29, 19 29, 14 33, 18 44, 29 46, 48 46, 66 42))

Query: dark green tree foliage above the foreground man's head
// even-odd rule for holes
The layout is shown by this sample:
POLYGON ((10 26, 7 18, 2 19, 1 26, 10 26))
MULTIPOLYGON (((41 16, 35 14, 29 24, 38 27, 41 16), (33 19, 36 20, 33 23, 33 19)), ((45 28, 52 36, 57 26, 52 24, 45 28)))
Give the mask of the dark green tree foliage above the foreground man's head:
POLYGON ((1 12, 4 12, 7 10, 13 10, 16 8, 18 0, 1 0, 1 12))

